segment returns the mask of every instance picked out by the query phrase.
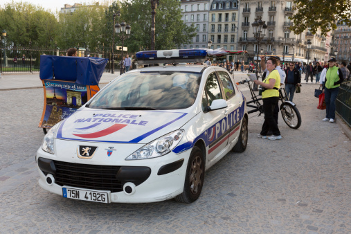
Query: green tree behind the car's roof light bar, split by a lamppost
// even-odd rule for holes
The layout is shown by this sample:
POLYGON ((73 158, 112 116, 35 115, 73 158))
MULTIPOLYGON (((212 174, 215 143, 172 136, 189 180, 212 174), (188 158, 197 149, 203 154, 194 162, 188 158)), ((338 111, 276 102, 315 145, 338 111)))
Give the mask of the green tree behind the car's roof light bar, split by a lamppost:
MULTIPOLYGON (((125 21, 132 27, 130 38, 125 41, 129 51, 138 51, 151 44, 151 5, 148 0, 132 0, 121 3, 118 22, 125 21)), ((195 26, 186 26, 181 20, 180 3, 177 0, 160 0, 156 8, 155 49, 179 48, 195 37, 195 26)), ((118 45, 121 45, 118 40, 118 45)))

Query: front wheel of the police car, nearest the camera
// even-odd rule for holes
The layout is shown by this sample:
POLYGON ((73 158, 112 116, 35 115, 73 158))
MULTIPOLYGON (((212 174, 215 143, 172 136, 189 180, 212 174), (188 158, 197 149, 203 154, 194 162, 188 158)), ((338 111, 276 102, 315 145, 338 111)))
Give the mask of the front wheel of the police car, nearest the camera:
POLYGON ((192 148, 186 169, 184 189, 180 195, 174 198, 176 201, 190 204, 200 197, 205 179, 204 158, 204 154, 199 147, 192 148))

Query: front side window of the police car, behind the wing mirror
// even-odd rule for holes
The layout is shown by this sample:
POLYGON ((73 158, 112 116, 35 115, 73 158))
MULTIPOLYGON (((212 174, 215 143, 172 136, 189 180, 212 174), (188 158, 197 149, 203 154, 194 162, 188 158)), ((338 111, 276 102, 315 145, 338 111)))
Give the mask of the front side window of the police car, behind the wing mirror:
POLYGON ((207 107, 210 106, 213 100, 222 99, 221 89, 219 89, 219 83, 215 73, 210 73, 206 80, 205 92, 202 98, 202 109, 203 111, 207 110, 207 107))

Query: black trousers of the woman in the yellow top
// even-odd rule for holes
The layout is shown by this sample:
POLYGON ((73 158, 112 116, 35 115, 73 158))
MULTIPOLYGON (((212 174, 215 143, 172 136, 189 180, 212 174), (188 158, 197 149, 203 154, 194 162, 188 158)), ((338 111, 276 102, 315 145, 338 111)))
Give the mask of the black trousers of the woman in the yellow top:
POLYGON ((262 125, 261 135, 267 136, 271 129, 274 136, 280 136, 278 124, 273 117, 273 112, 278 105, 279 97, 263 98, 264 123, 262 125))

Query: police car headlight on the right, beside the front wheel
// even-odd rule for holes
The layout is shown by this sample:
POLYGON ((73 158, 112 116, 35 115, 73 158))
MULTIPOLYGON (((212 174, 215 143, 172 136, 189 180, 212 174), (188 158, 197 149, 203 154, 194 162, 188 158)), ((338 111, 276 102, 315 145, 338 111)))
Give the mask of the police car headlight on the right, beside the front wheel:
POLYGON ((152 143, 141 147, 139 150, 136 150, 136 152, 129 155, 125 160, 152 159, 168 154, 181 141, 183 133, 184 130, 180 129, 162 136, 161 138, 152 141, 152 143))

